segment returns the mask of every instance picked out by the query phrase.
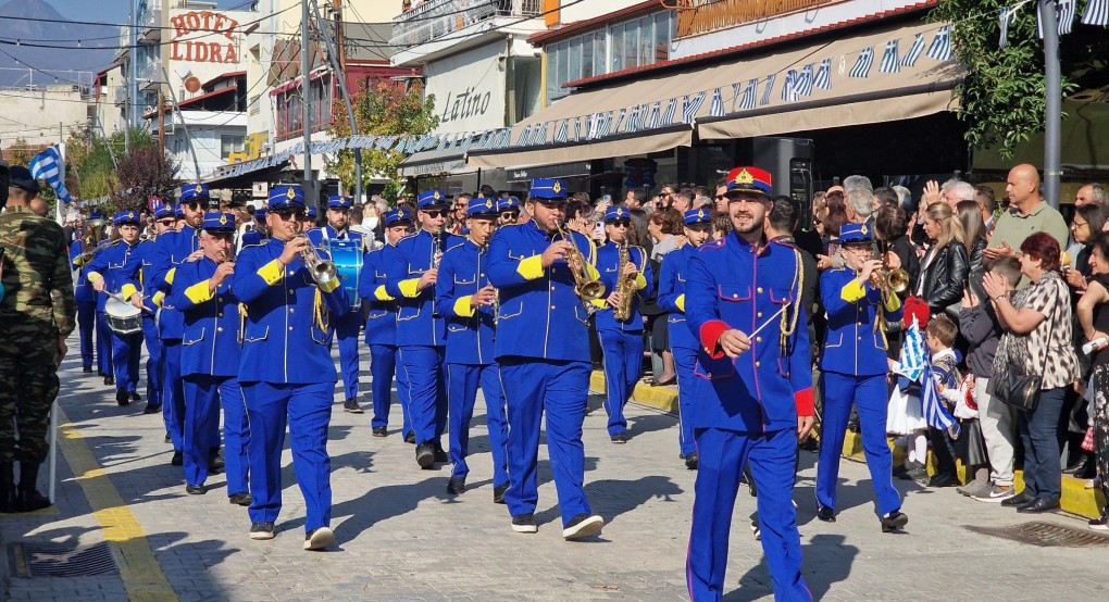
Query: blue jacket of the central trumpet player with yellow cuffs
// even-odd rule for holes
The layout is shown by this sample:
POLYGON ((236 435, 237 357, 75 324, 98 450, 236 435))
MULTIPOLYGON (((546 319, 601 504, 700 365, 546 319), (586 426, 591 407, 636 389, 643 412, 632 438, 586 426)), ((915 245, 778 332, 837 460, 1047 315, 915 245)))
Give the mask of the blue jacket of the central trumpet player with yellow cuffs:
MULTIPOLYGON (((571 232, 573 244, 597 277, 589 238, 571 232)), ((535 222, 498 229, 489 242, 489 282, 500 290, 497 357, 589 361, 589 313, 573 292, 564 261, 542 267, 540 255, 559 234, 535 222)))

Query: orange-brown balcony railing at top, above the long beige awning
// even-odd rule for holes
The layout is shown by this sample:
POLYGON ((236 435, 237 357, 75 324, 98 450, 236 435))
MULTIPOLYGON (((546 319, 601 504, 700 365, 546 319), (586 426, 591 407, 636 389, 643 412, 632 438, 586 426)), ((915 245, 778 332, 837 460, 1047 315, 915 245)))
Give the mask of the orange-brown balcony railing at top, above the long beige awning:
POLYGON ((682 0, 678 38, 728 29, 843 0, 682 0))

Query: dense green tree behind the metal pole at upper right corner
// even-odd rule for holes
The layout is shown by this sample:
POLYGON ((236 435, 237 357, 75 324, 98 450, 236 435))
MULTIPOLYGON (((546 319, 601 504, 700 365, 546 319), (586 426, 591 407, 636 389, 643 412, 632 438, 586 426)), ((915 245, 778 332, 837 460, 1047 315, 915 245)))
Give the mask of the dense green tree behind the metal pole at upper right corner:
MULTIPOLYGON (((1078 2, 1078 14, 1086 3, 1078 2)), ((955 54, 967 69, 966 79, 955 90, 959 119, 967 124, 967 143, 975 149, 996 147, 1005 157, 1011 157, 1017 144, 1044 130, 1047 109, 1036 2, 1014 14, 1008 45, 1000 48, 998 43, 998 10, 1015 4, 1015 0, 940 0, 929 14, 934 22, 953 23, 955 54)), ((1109 40, 1101 28, 1076 20, 1074 31, 1060 38, 1059 50, 1064 95, 1103 83, 1109 40)))

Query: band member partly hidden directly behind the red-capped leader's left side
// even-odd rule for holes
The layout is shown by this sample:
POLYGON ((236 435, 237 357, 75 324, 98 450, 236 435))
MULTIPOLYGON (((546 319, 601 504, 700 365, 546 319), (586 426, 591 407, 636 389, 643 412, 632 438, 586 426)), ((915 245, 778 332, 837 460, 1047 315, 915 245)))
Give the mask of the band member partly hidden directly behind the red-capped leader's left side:
POLYGON ((712 213, 703 207, 688 211, 684 223, 689 244, 668 253, 662 259, 659 307, 670 312, 667 317, 670 348, 673 349, 678 367, 678 445, 685 460, 685 468, 696 470, 696 441, 693 439, 693 426, 689 418, 693 412, 693 366, 700 345, 685 324, 685 280, 689 277, 690 257, 712 234, 712 213))

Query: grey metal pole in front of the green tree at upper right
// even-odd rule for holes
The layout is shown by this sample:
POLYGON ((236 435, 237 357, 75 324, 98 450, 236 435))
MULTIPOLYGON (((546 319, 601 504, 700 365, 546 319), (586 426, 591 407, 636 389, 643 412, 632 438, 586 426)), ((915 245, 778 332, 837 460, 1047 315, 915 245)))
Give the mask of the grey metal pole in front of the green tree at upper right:
POLYGON ((1039 0, 1040 23, 1044 27, 1044 74, 1047 78, 1047 105, 1044 120, 1044 191, 1048 204, 1059 208, 1059 181, 1062 175, 1062 68, 1059 64, 1059 23, 1056 0, 1039 0))

